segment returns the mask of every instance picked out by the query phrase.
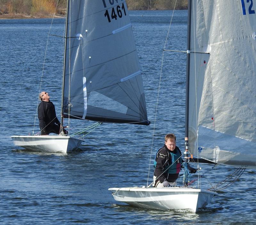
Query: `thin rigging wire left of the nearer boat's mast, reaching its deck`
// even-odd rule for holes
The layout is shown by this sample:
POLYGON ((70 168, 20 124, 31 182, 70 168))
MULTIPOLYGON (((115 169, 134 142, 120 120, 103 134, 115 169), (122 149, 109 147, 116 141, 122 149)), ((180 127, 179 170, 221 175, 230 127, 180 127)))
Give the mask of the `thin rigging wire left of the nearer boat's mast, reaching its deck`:
MULTIPOLYGON (((173 9, 173 11, 172 11, 172 18, 173 18, 173 15, 174 15, 176 3, 177 3, 177 0, 175 1, 174 9, 173 9)), ((165 49, 166 42, 167 42, 167 39, 168 39, 168 35, 169 35, 170 29, 171 29, 172 18, 171 18, 171 22, 170 22, 170 25, 169 25, 168 33, 167 33, 167 36, 166 36, 166 40, 165 40, 165 43, 164 43, 164 49, 165 49)), ((158 85, 158 92, 157 92, 156 113, 157 113, 157 106, 158 106, 158 99, 159 99, 159 91, 160 91, 160 83, 161 83, 162 70, 163 70, 163 62, 164 62, 164 50, 163 50, 162 64, 161 64, 161 71, 160 71, 160 78, 159 78, 159 85, 158 85)), ((152 149, 153 149, 154 135, 155 135, 155 128, 156 128, 156 113, 155 113, 155 120, 154 120, 154 128, 153 128, 153 135, 152 135, 152 144, 151 144, 150 158, 149 158, 148 179, 149 179, 150 162, 151 162, 151 157, 152 157, 152 149)), ((148 180, 147 180, 147 187, 148 187, 148 180)))

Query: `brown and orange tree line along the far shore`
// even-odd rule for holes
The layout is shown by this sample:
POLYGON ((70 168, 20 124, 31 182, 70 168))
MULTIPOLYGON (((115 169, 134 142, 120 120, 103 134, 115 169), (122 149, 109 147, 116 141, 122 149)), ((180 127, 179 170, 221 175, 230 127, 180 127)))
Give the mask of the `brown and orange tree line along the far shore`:
MULTIPOLYGON (((0 0, 0 17, 51 17, 55 9, 56 15, 64 16, 66 4, 67 0, 0 0)), ((184 10, 188 0, 126 0, 126 4, 128 10, 173 10, 174 6, 184 10)))

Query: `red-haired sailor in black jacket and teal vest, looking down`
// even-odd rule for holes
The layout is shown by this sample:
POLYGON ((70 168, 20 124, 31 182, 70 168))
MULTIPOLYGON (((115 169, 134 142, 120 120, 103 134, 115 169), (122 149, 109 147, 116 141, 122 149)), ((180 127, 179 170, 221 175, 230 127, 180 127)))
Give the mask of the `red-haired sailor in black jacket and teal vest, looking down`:
MULTIPOLYGON (((156 153, 154 162, 154 184, 155 187, 177 186, 176 180, 181 170, 180 149, 176 146, 176 136, 166 134, 163 148, 156 153)), ((188 170, 196 173, 196 169, 188 165, 188 170)))

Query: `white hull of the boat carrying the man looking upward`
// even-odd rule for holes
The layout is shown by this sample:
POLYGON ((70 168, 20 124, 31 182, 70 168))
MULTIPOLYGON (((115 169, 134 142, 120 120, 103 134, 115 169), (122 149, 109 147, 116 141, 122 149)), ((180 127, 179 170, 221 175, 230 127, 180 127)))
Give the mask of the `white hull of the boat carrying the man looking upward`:
POLYGON ((59 135, 11 136, 14 145, 34 151, 68 153, 78 149, 83 139, 59 135))

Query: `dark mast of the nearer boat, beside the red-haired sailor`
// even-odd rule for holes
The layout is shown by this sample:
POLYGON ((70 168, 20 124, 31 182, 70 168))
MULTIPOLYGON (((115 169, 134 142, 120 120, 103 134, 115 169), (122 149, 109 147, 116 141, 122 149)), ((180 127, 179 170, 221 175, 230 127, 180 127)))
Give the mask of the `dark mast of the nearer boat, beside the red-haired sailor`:
MULTIPOLYGON (((186 112, 185 112, 185 162, 188 163, 188 106, 189 106, 189 72, 190 72, 190 36, 191 36, 191 2, 188 0, 188 34, 187 34, 187 68, 186 68, 186 112)), ((185 184, 187 185, 187 184, 185 184)))

